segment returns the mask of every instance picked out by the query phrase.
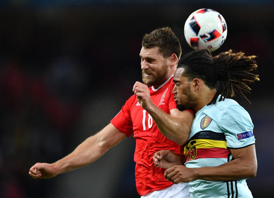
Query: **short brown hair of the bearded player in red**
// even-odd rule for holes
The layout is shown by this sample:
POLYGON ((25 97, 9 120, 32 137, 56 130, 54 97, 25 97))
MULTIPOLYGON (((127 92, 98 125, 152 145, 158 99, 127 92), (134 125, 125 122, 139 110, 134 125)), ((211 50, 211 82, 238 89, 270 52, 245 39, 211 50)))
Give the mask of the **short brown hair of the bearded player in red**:
POLYGON ((182 49, 180 40, 174 34, 170 27, 162 27, 145 34, 142 41, 145 49, 159 47, 160 52, 165 58, 170 57, 173 53, 180 59, 182 49))

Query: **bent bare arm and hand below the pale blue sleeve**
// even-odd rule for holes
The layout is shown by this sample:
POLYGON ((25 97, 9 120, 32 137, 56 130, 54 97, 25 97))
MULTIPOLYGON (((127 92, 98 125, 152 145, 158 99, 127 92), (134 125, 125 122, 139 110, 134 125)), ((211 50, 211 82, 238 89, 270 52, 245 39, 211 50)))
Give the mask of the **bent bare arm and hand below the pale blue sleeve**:
POLYGON ((174 166, 165 171, 165 178, 174 183, 196 179, 208 181, 233 181, 253 178, 257 172, 255 145, 242 149, 230 149, 234 160, 217 167, 187 168, 174 166))

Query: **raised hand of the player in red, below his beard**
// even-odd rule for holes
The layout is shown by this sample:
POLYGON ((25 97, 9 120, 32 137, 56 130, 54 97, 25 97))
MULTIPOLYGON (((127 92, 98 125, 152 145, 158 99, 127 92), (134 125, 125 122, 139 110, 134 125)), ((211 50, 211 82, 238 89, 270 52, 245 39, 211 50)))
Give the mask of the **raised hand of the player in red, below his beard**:
POLYGON ((132 91, 137 96, 138 102, 144 109, 152 103, 147 85, 137 81, 135 82, 132 91))

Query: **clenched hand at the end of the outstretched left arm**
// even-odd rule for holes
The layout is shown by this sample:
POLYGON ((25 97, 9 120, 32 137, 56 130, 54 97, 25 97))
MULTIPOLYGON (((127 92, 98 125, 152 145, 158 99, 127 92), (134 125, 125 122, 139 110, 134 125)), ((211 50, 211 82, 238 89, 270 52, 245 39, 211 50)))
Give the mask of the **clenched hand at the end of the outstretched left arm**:
POLYGON ((30 168, 29 175, 33 179, 47 179, 55 177, 57 170, 53 164, 36 163, 30 168))

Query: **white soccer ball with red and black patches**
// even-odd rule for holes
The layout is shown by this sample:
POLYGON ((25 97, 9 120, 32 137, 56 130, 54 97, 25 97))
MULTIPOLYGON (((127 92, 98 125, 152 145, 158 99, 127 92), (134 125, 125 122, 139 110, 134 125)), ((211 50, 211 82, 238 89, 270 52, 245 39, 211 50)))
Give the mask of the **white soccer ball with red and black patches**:
POLYGON ((227 38, 227 23, 212 9, 199 9, 184 24, 184 36, 193 49, 218 49, 227 38))

